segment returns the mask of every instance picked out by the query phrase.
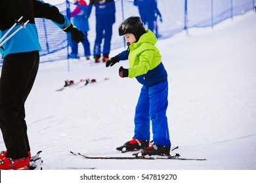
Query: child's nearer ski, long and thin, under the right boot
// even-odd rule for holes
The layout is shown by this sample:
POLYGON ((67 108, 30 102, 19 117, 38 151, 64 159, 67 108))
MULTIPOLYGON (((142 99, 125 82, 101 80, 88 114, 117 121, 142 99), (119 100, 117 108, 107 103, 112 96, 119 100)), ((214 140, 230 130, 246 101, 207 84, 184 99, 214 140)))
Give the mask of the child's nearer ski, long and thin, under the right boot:
POLYGON ((71 154, 75 156, 82 156, 85 159, 144 159, 144 160, 154 160, 154 159, 176 159, 176 160, 196 160, 196 161, 203 161, 206 159, 201 158, 180 158, 179 156, 155 156, 155 157, 148 157, 148 156, 134 156, 134 157, 128 157, 128 156, 85 156, 79 152, 75 153, 70 151, 71 154))

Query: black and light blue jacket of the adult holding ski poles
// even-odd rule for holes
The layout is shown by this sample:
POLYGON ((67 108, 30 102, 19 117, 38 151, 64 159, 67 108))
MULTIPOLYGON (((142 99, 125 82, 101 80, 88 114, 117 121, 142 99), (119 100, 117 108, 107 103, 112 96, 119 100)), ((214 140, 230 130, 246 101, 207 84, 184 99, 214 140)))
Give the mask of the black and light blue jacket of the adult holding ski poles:
MULTIPOLYGON (((20 29, 9 41, 3 44, 4 50, 0 49, 2 58, 9 54, 20 52, 41 51, 39 44, 35 18, 47 18, 52 20, 60 29, 68 27, 70 20, 60 14, 58 8, 37 0, 1 0, 0 1, 0 37, 3 37, 15 23, 15 20, 24 16, 22 22, 30 20, 26 29, 20 29)), ((12 29, 13 33, 21 25, 12 29)), ((9 35, 11 35, 9 33, 9 35)))

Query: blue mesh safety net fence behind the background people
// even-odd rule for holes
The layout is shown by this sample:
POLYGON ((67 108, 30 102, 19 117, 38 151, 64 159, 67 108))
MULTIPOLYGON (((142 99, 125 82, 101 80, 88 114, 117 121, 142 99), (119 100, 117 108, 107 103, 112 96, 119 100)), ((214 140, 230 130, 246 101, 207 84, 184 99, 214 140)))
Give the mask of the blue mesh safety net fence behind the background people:
MULTIPOLYGON (((136 6, 133 0, 115 1, 116 22, 113 25, 111 50, 125 46, 123 37, 119 37, 118 35, 119 24, 125 18, 129 16, 140 16, 139 6, 141 3, 144 3, 146 10, 151 11, 150 7, 147 7, 146 1, 152 0, 143 1, 137 1, 139 5, 137 4, 136 6)), ((154 32, 157 33, 158 39, 171 37, 192 27, 213 27, 223 20, 245 14, 245 12, 255 8, 255 0, 158 0, 157 2, 161 17, 159 14, 155 17, 154 32)), ((76 7, 70 1, 64 1, 55 6, 59 8, 62 14, 69 14, 67 12, 72 12, 76 7)), ((50 20, 37 18, 36 25, 39 33, 39 41, 43 49, 40 52, 41 63, 68 59, 71 48, 68 46, 66 33, 58 29, 50 20)), ((147 24, 146 27, 148 27, 147 24)), ((95 7, 93 7, 91 16, 89 17, 88 31, 92 54, 95 37, 96 16, 95 7)), ((80 57, 84 56, 83 46, 81 44, 79 44, 78 52, 80 57)), ((3 60, 0 60, 0 67, 2 63, 3 60)))

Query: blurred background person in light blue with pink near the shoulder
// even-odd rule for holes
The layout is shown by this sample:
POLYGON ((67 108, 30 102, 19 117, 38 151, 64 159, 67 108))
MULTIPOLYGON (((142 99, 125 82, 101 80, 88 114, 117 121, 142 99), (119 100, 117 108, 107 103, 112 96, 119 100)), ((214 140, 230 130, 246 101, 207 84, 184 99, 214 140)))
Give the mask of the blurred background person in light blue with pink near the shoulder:
MULTIPOLYGON (((77 5, 75 9, 71 12, 71 17, 73 18, 73 24, 77 26, 78 29, 83 31, 85 34, 85 41, 82 42, 84 48, 84 55, 87 60, 90 59, 91 50, 90 42, 87 39, 87 32, 89 31, 89 22, 87 18, 87 3, 84 0, 74 0, 74 4, 77 5)), ((78 44, 72 41, 72 52, 70 58, 79 59, 78 56, 78 44)))

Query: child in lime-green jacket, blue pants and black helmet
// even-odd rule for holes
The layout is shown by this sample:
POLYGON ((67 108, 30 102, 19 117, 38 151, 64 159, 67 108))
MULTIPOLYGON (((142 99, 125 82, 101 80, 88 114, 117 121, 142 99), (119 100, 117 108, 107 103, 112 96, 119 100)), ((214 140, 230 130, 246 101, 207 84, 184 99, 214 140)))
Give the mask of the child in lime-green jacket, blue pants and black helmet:
POLYGON ((169 156, 171 141, 167 124, 167 72, 161 63, 161 55, 154 46, 157 39, 152 31, 145 30, 139 16, 131 16, 119 25, 119 35, 124 35, 129 46, 114 58, 106 62, 106 67, 113 66, 120 60, 129 60, 129 69, 119 68, 122 78, 136 77, 142 84, 139 101, 135 111, 135 135, 117 150, 133 151, 142 149, 142 156, 169 156), (150 120, 154 144, 150 141, 150 120))

